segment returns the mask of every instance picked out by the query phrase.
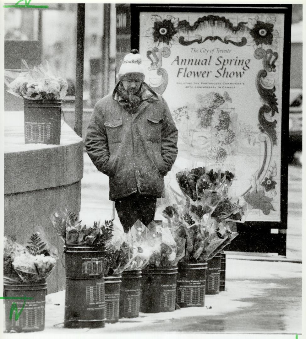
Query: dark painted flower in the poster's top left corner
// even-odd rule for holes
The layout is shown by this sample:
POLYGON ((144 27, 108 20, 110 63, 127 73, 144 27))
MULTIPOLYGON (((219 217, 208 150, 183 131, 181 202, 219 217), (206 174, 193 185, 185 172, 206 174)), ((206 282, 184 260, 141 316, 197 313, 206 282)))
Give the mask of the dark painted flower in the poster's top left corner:
POLYGON ((178 42, 178 18, 167 15, 167 19, 162 20, 159 15, 152 15, 153 27, 147 29, 146 37, 149 38, 148 45, 159 46, 164 43, 169 47, 178 42))

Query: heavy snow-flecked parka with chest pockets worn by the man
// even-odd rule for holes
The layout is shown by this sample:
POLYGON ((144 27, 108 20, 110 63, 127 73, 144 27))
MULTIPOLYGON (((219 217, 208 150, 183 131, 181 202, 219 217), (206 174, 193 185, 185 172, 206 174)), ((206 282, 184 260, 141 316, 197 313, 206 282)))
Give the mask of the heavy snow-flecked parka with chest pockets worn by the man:
POLYGON ((177 156, 177 128, 169 107, 150 90, 131 114, 116 100, 115 91, 94 107, 86 151, 97 169, 109 176, 110 200, 137 191, 160 198, 164 176, 177 156))

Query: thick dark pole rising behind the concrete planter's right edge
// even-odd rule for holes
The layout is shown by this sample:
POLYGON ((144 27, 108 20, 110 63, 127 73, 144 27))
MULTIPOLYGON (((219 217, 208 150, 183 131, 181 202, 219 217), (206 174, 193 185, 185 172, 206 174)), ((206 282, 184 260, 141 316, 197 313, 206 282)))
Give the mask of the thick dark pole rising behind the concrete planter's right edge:
POLYGON ((80 137, 82 137, 82 124, 83 124, 84 35, 85 35, 85 4, 79 3, 77 14, 74 131, 80 137))

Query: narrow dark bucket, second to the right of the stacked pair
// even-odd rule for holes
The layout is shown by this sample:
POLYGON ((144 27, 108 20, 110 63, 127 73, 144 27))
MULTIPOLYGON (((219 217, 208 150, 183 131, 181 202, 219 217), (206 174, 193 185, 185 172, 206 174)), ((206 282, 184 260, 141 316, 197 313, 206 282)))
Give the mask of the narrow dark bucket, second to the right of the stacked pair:
POLYGON ((119 318, 139 316, 141 294, 141 271, 122 272, 119 302, 119 318))

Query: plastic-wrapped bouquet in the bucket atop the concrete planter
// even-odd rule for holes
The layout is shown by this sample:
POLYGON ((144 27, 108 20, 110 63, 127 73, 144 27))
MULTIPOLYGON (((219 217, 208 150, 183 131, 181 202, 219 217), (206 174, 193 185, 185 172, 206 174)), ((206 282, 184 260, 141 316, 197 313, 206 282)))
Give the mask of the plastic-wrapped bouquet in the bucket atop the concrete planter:
POLYGON ((8 77, 16 77, 12 82, 5 80, 9 90, 7 92, 30 100, 58 100, 63 99, 67 93, 68 83, 61 77, 52 74, 49 64, 40 64, 30 69, 25 60, 22 60, 25 71, 20 73, 6 72, 8 77))

